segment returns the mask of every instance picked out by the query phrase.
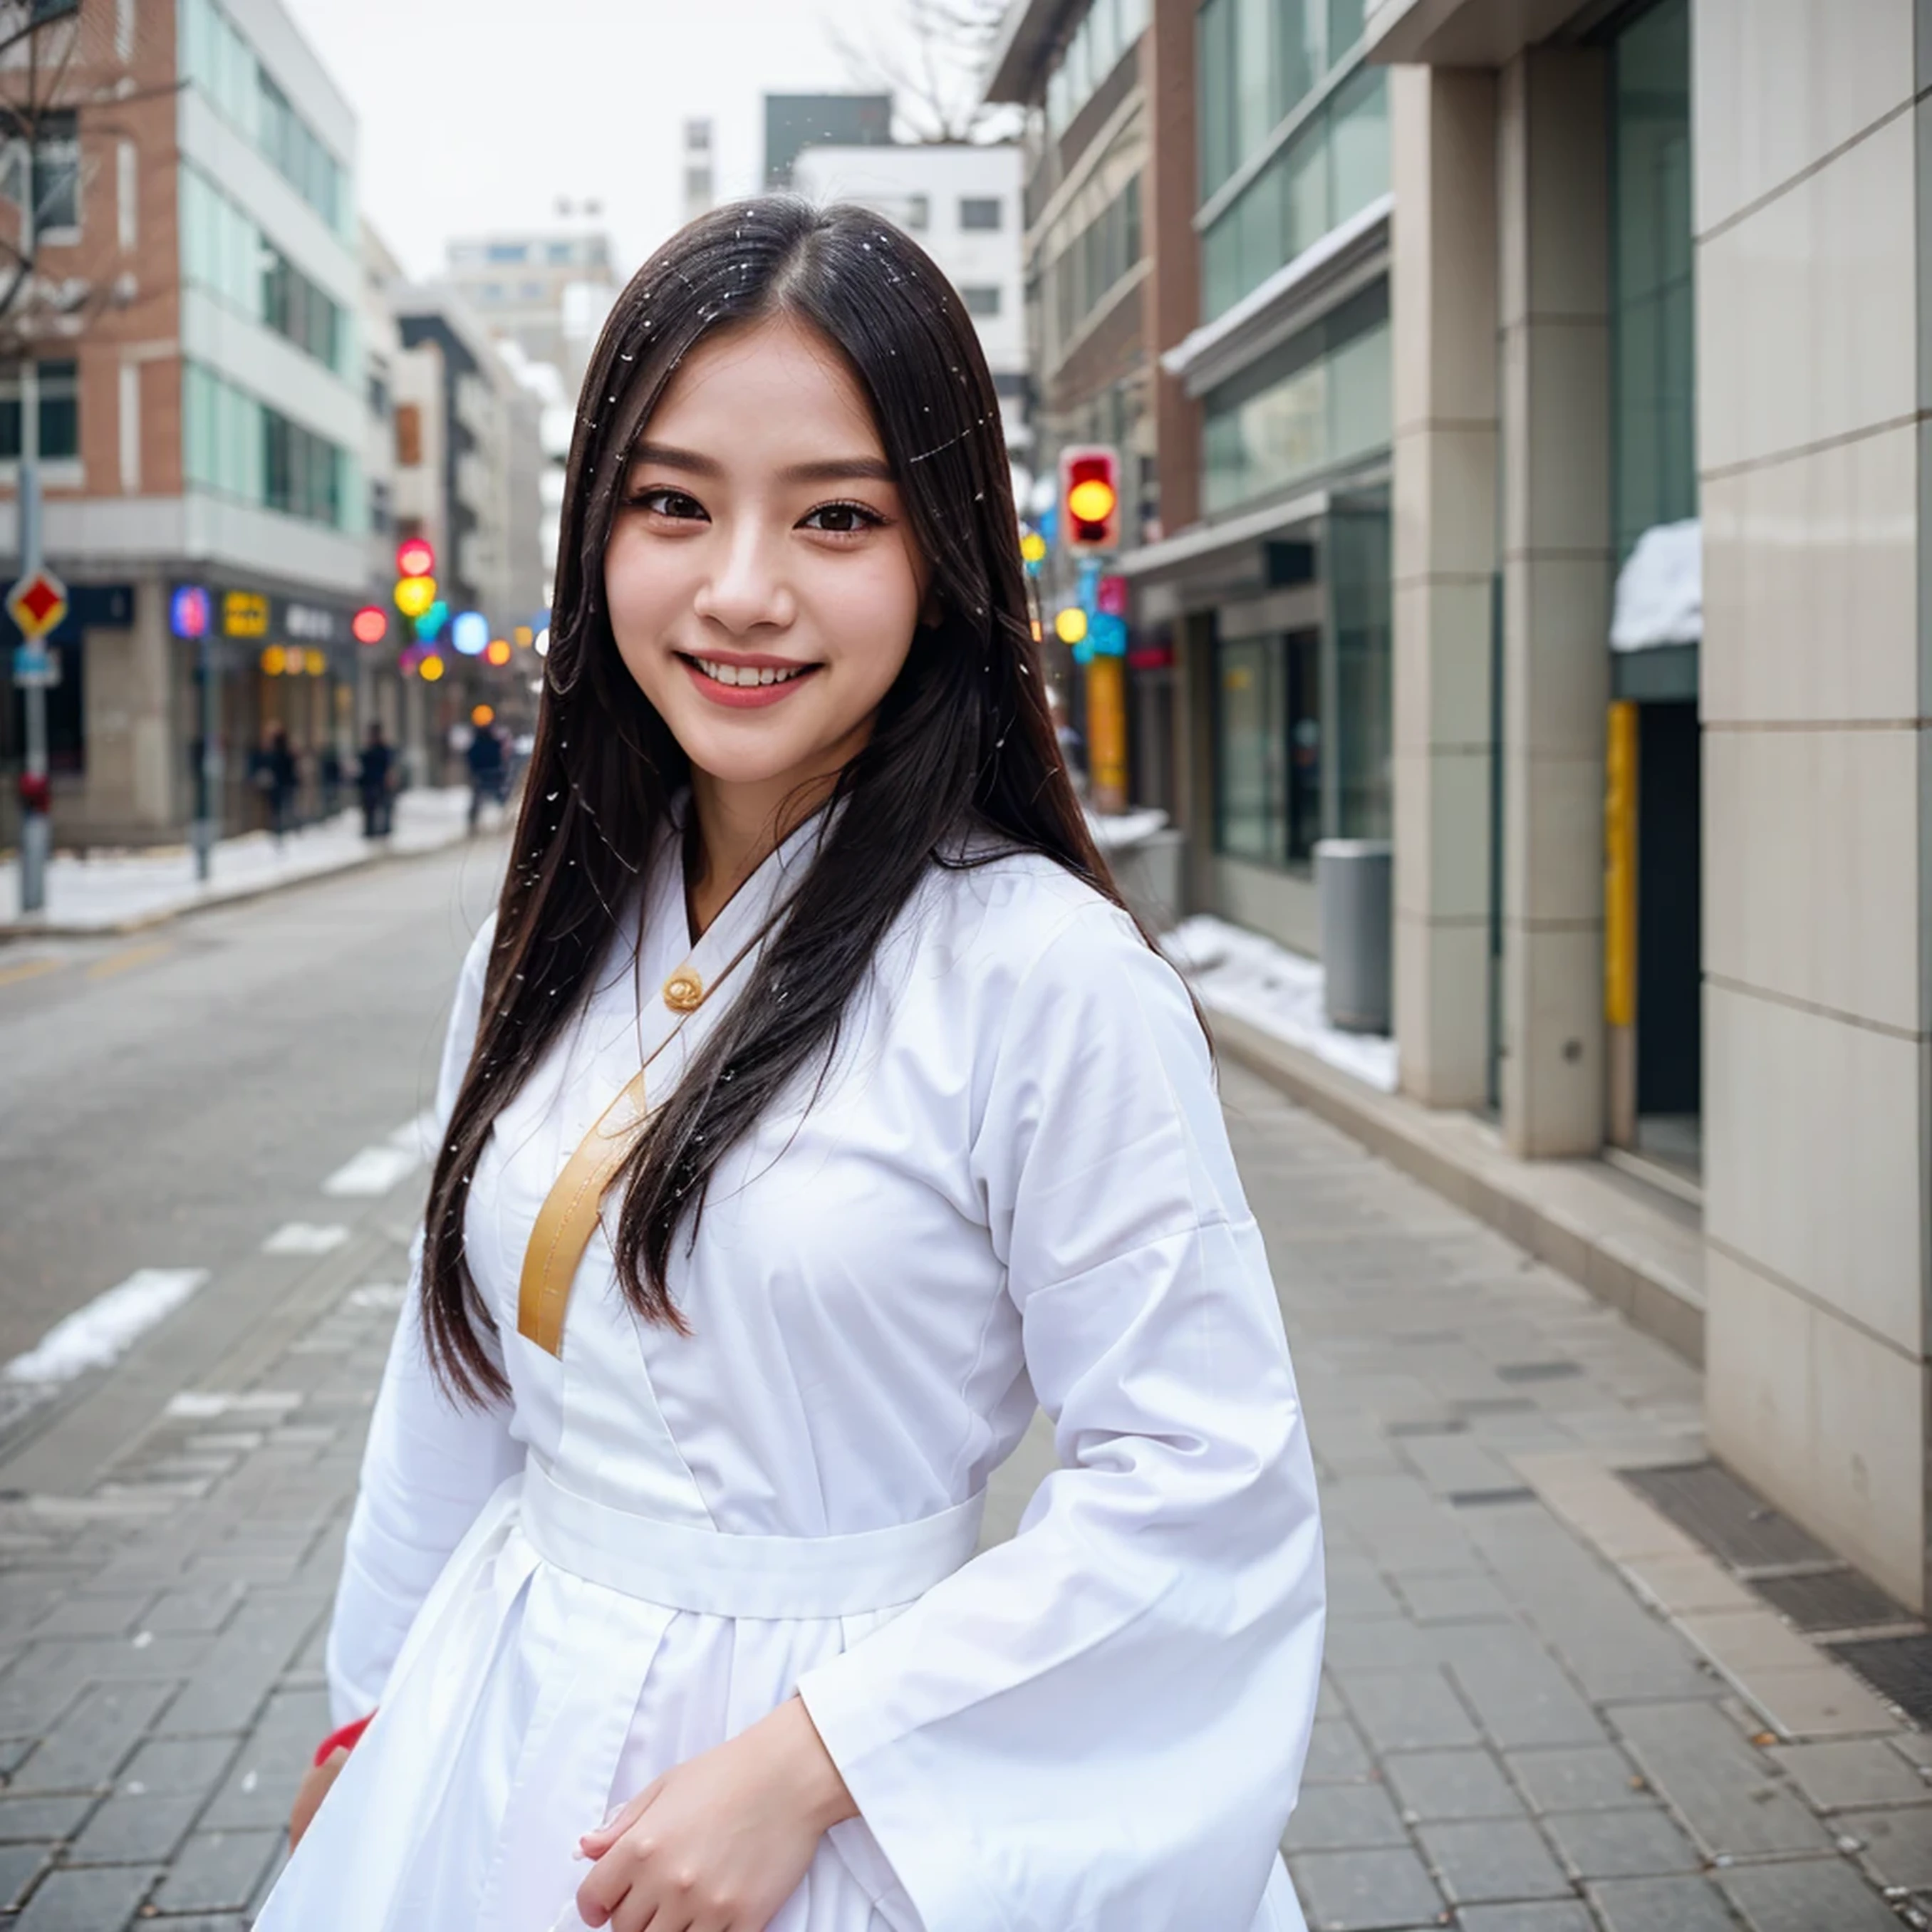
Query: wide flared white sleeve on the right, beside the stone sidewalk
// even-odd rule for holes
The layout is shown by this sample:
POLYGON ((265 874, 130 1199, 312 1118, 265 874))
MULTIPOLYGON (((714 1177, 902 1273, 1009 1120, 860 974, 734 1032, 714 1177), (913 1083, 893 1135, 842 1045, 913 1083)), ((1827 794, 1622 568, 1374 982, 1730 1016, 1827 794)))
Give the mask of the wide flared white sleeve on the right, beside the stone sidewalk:
POLYGON ((1314 1718, 1314 1466, 1200 1026, 1111 908, 1018 985, 974 1148, 1063 1466, 800 1692, 927 1932, 1246 1932, 1314 1718))

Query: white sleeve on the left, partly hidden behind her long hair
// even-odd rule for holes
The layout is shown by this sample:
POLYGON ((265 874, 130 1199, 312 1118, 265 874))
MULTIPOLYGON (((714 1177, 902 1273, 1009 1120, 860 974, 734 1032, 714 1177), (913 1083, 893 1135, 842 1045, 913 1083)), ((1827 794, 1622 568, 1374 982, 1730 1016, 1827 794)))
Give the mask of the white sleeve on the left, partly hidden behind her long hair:
MULTIPOLYGON (((437 1140, 448 1128, 475 1043, 495 918, 469 945, 437 1078, 437 1140)), ((423 1236, 369 1420, 361 1488, 350 1519, 328 1627, 328 1702, 336 1723, 383 1698, 423 1598, 497 1486, 524 1463, 506 1403, 473 1408, 439 1387, 423 1345, 423 1236)))

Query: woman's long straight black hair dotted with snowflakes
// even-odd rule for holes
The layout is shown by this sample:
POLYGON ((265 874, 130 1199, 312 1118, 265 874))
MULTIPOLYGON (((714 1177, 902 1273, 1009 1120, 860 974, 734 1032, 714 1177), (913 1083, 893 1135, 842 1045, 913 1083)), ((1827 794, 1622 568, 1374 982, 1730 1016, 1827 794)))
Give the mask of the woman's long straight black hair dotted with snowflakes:
POLYGON ((690 765, 624 668, 605 543, 630 452, 701 340, 788 315, 840 350, 871 400, 937 622, 920 624, 838 811, 753 978, 647 1121, 612 1192, 622 1291, 682 1329, 668 1262, 717 1163, 838 1022, 925 869, 968 833, 1043 852, 1121 902, 1066 779, 1018 553, 999 402, 972 321, 904 234, 856 207, 765 197, 667 242, 618 298, 583 377, 537 744, 502 885, 483 1018, 429 1190, 423 1316, 452 1391, 504 1393, 464 1258, 464 1206, 504 1103, 587 999, 620 908, 690 765), (779 997, 779 995, 784 997, 779 997))

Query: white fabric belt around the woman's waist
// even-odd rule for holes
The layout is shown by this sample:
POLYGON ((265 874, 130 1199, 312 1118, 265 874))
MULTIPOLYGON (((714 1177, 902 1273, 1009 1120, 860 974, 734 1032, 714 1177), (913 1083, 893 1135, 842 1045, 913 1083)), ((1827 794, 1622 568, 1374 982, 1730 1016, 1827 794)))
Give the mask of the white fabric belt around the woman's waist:
POLYGON ((985 1492, 937 1517, 854 1536, 730 1536, 595 1503, 531 1461, 524 1534, 545 1563, 709 1617, 858 1617, 923 1596, 980 1542, 985 1492))

